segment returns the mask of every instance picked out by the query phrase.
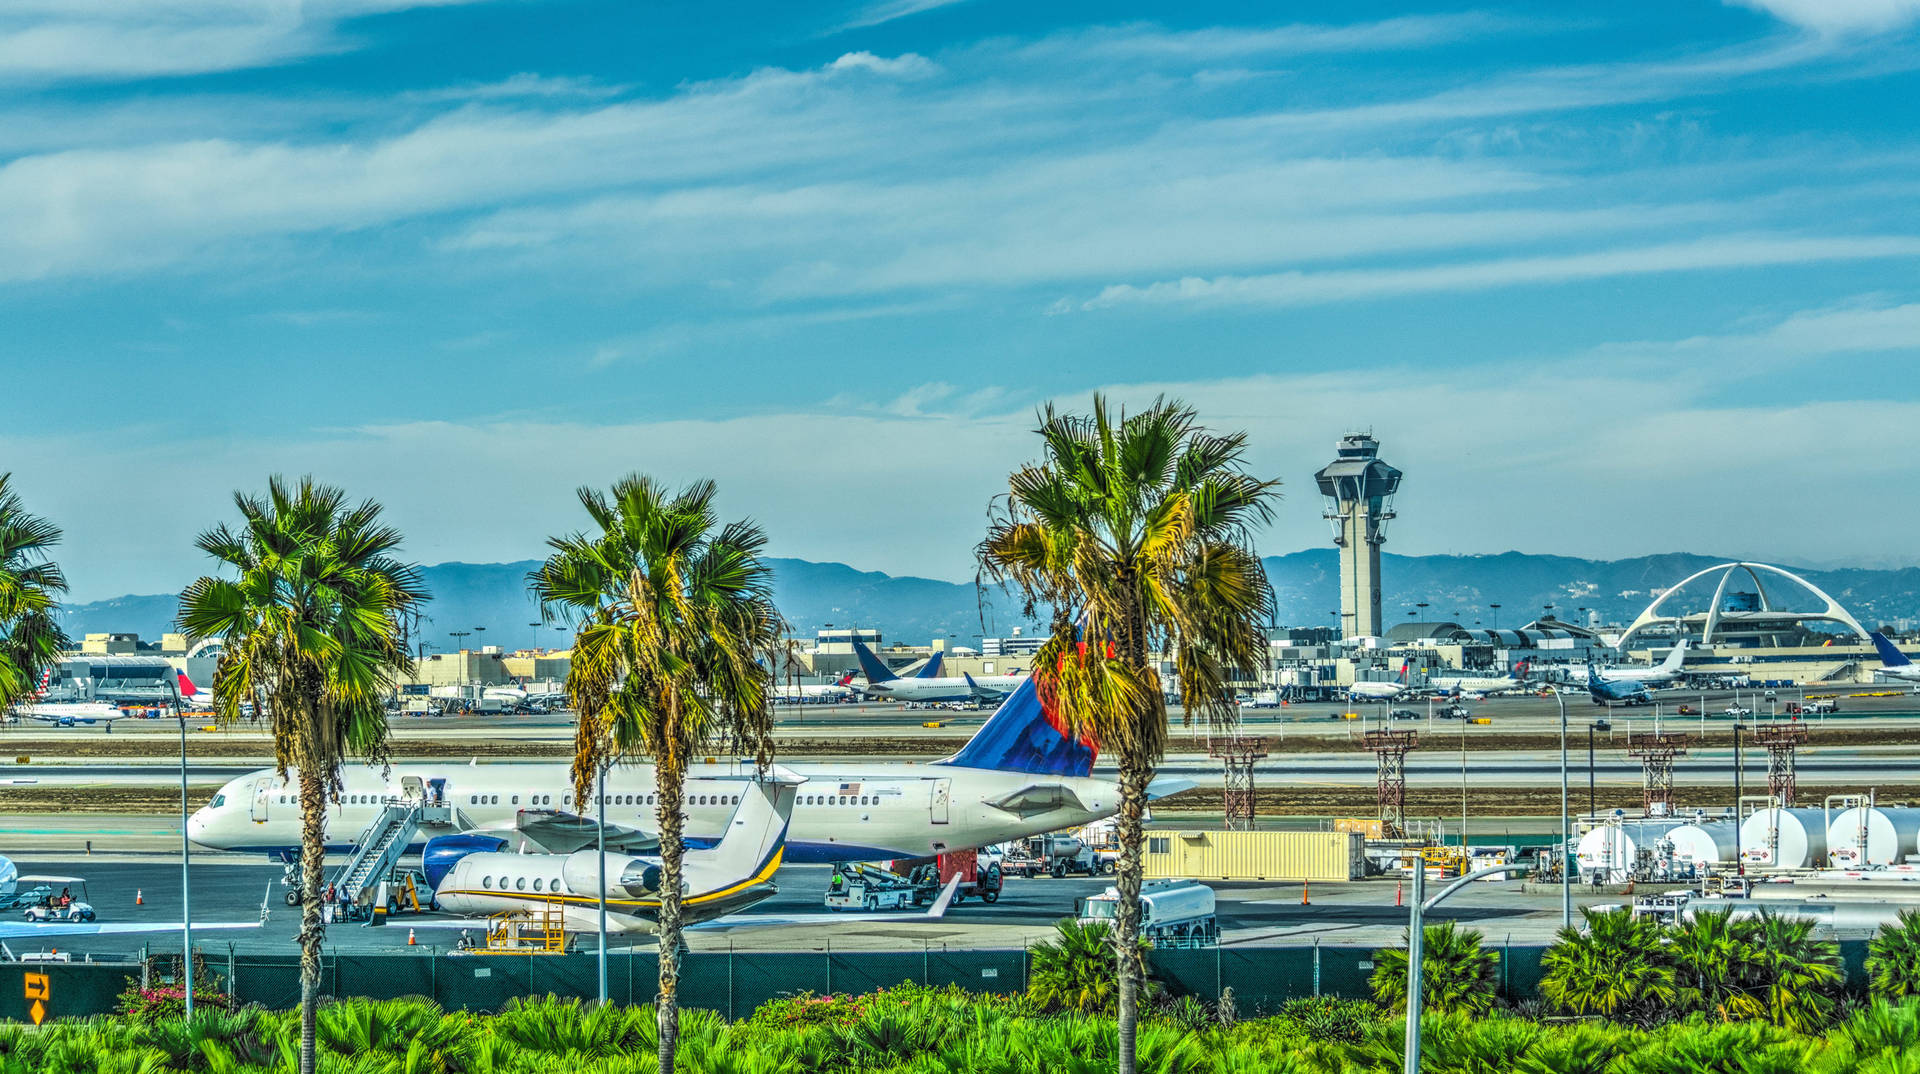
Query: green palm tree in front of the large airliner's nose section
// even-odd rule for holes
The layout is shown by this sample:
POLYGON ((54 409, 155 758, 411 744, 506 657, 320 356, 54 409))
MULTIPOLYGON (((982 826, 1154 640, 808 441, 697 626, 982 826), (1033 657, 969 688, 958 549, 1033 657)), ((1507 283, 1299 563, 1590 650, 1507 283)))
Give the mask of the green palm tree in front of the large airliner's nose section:
POLYGON ((399 530, 372 500, 301 478, 267 480, 267 496, 234 494, 242 525, 194 542, 230 578, 205 576, 180 594, 180 628, 225 638, 213 671, 213 711, 234 722, 242 705, 273 717, 280 778, 300 784, 300 1074, 313 1074, 321 986, 321 865, 326 805, 340 797, 349 753, 386 755, 384 697, 413 671, 401 617, 426 599, 419 569, 396 559, 399 530))

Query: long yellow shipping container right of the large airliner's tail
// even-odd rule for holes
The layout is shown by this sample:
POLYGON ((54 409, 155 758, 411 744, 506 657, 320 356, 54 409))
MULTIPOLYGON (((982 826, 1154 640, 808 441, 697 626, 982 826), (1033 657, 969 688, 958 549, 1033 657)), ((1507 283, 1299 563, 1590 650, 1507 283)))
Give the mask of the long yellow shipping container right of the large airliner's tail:
POLYGON ((1359 880, 1359 832, 1146 832, 1148 880, 1359 880))

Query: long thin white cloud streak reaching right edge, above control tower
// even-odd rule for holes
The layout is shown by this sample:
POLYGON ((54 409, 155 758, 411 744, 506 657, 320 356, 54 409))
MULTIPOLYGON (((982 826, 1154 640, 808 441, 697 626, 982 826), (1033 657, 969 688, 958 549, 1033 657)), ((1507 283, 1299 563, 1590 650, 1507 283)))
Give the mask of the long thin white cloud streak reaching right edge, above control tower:
POLYGON ((1083 309, 1116 305, 1319 305, 1361 298, 1484 290, 1496 286, 1555 284, 1605 277, 1680 273, 1701 269, 1751 269, 1816 261, 1920 257, 1920 236, 1716 236, 1663 246, 1636 246, 1592 254, 1501 257, 1419 269, 1346 269, 1325 273, 1271 273, 1260 277, 1188 277, 1146 286, 1114 284, 1081 304, 1083 309))

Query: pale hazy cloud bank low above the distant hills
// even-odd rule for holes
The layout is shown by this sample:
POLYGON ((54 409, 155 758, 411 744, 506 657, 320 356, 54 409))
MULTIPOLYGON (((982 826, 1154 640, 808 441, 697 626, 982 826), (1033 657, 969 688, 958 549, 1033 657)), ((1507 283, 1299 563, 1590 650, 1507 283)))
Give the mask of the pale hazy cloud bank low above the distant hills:
MULTIPOLYGON (((1728 361, 1738 361, 1728 357, 1728 361)), ((1202 417, 1252 434, 1252 467, 1281 476, 1286 500, 1263 551, 1325 544, 1311 473, 1354 415, 1407 471, 1396 551, 1500 551, 1636 555, 1690 548, 1716 551, 1728 534, 1768 559, 1847 559, 1907 548, 1920 500, 1884 496, 1912 478, 1920 457, 1920 402, 1703 402, 1715 365, 1688 365, 1645 390, 1636 371, 1484 365, 1471 371, 1402 367, 1369 377, 1260 375, 1227 380, 1116 384, 1129 405, 1158 394, 1194 403, 1202 417), (1620 400, 1634 400, 1620 407, 1620 400), (1277 419, 1275 415, 1286 415, 1277 419), (1715 490, 1715 511, 1668 515, 1657 530, 1634 513, 1542 509, 1569 488, 1632 488, 1672 467, 1672 434, 1740 452, 1688 455, 1688 480, 1715 490), (1755 436, 1755 430, 1766 430, 1755 436), (1849 459, 1834 467, 1832 459, 1849 459), (1494 500, 1473 490, 1503 488, 1494 500), (1814 515, 1784 523, 1782 498, 1874 501, 1830 526, 1814 515)), ((1089 386, 1091 388, 1091 386, 1089 386)), ((1058 396, 1085 407, 1089 390, 1058 396)), ((58 432, 0 434, 0 455, 35 505, 67 528, 63 559, 77 599, 163 592, 204 569, 192 534, 227 513, 234 488, 269 473, 313 473, 355 496, 388 503, 409 555, 438 563, 538 555, 541 540, 578 523, 570 488, 605 484, 636 465, 666 480, 714 476, 730 515, 753 515, 780 555, 837 559, 897 574, 962 578, 987 498, 1037 452, 1031 396, 979 398, 927 384, 862 411, 818 403, 712 421, 482 419, 378 425, 271 438, 156 444, 136 455, 121 442, 58 432), (403 465, 396 465, 403 459, 403 465), (860 473, 862 488, 935 488, 900 511, 887 498, 822 492, 824 473, 860 473), (92 496, 73 473, 115 473, 115 498, 92 496), (828 496, 824 501, 822 496, 828 496), (472 526, 474 503, 513 503, 472 526), (822 509, 831 503, 831 509, 822 509), (142 519, 125 526, 127 517, 142 519)))

